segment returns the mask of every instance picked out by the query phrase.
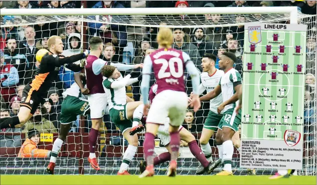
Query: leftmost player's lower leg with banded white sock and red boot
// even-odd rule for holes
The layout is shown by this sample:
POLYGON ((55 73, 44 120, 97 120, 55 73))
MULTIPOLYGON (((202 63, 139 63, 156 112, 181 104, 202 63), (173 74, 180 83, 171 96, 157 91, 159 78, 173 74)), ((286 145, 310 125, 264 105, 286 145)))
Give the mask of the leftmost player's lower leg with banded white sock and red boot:
POLYGON ((62 144, 64 143, 70 128, 71 128, 71 123, 61 124, 61 132, 59 134, 59 137, 54 141, 52 152, 51 152, 50 163, 48 167, 46 168, 46 171, 49 174, 54 174, 56 158, 58 157, 62 144))

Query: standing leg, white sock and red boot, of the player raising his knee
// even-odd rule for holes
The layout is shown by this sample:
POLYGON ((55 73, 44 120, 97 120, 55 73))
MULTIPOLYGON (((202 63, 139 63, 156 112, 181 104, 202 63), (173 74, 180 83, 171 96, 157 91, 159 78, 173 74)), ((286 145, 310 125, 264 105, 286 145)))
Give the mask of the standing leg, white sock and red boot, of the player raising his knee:
POLYGON ((129 145, 128 148, 125 150, 124 155, 123 155, 123 160, 120 165, 120 169, 118 171, 118 175, 129 175, 128 173, 128 167, 130 162, 132 161, 135 153, 137 152, 139 141, 138 141, 138 136, 137 135, 130 135, 130 128, 127 129, 122 133, 125 139, 128 140, 129 145))

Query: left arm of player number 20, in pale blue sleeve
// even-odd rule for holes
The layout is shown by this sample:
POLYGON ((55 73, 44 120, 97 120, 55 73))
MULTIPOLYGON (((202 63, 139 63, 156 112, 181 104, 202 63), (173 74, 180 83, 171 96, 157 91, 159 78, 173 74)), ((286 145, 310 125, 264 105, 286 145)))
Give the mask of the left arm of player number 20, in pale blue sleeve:
POLYGON ((152 73, 152 60, 148 55, 144 59, 142 82, 141 82, 141 94, 143 96, 143 104, 149 104, 149 89, 150 89, 150 78, 152 73))

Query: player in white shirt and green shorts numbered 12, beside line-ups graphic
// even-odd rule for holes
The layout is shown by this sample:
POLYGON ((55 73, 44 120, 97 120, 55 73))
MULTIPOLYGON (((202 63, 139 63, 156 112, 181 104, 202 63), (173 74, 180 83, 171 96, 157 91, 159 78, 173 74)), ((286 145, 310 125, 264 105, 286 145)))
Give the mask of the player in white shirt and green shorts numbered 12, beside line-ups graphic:
POLYGON ((224 168, 217 175, 232 175, 231 160, 233 154, 232 137, 238 131, 241 122, 241 110, 238 114, 234 111, 238 103, 238 93, 241 91, 242 80, 240 74, 233 69, 233 64, 237 61, 236 56, 230 52, 224 52, 219 61, 219 69, 224 71, 219 84, 215 89, 200 98, 206 101, 217 97, 222 92, 223 103, 217 108, 218 113, 224 110, 224 115, 218 125, 216 134, 219 157, 222 158, 224 168), (221 139, 220 139, 221 138, 221 139), (220 145, 220 147, 219 147, 220 145), (221 146, 222 145, 222 146, 221 146), (222 154, 222 156, 221 156, 222 154))

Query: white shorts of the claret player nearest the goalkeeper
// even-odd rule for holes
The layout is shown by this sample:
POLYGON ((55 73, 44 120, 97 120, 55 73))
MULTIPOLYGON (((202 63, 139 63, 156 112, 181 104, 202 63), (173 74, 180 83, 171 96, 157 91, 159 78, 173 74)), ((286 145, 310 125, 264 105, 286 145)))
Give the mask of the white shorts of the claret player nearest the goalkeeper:
POLYGON ((90 105, 91 119, 99 119, 104 116, 108 104, 106 93, 88 95, 88 103, 90 105))

